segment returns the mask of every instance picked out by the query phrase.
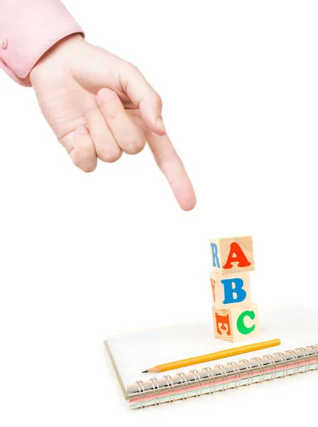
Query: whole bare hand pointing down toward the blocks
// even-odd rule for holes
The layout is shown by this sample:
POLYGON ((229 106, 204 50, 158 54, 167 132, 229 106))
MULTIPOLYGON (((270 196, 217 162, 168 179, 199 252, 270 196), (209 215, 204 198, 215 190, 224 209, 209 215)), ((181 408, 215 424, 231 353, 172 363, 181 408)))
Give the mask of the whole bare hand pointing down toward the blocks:
POLYGON ((131 63, 87 43, 80 34, 57 43, 33 67, 41 111, 74 164, 85 172, 137 154, 146 142, 179 205, 196 196, 161 117, 161 99, 131 63))

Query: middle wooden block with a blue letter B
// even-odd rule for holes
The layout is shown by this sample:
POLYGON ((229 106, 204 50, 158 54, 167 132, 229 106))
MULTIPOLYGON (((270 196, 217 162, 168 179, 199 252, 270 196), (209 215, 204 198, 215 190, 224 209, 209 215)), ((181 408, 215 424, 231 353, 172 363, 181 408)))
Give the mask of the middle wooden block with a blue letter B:
POLYGON ((210 273, 213 305, 219 309, 251 304, 250 273, 210 273))

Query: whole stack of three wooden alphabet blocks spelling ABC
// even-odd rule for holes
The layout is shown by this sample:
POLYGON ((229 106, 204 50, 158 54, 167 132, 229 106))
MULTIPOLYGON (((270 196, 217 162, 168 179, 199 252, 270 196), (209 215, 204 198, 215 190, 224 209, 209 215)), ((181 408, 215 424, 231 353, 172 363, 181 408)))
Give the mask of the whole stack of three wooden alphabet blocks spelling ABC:
POLYGON ((252 237, 211 239, 210 247, 215 337, 238 342, 258 336, 258 307, 250 296, 249 272, 254 270, 252 237))

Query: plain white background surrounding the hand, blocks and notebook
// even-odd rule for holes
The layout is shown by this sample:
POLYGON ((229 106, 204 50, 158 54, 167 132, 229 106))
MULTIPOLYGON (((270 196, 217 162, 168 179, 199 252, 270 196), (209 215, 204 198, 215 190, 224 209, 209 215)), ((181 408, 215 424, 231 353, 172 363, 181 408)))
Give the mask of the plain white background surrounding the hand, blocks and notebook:
POLYGON ((33 90, 0 75, 1 426, 314 419, 314 374, 129 411, 102 342, 208 318, 211 237, 253 236, 254 302, 317 307, 317 3, 65 4, 161 94, 198 204, 179 209, 147 149, 76 169, 33 90))

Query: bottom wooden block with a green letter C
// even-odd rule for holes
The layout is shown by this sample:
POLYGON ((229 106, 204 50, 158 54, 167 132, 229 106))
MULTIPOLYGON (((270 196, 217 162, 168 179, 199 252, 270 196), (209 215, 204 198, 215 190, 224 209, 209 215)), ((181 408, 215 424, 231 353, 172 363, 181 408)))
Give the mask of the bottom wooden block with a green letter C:
POLYGON ((250 304, 246 307, 220 310, 212 308, 214 335, 216 338, 229 342, 239 342, 260 334, 258 306, 250 304))

